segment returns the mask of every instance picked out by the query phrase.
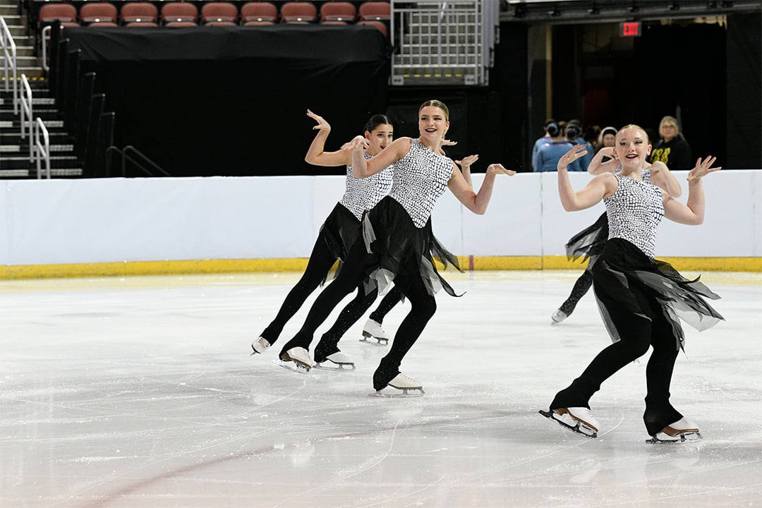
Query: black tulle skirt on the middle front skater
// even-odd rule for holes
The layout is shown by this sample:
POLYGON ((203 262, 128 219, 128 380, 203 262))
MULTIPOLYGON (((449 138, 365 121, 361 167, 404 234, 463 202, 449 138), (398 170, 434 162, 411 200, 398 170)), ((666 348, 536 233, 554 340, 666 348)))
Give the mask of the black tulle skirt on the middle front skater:
POLYGON ((434 238, 431 218, 423 228, 417 228, 402 205, 386 196, 366 213, 362 232, 367 250, 379 257, 378 266, 369 277, 370 284, 380 294, 386 292, 392 281, 404 293, 407 289, 404 285, 420 277, 432 296, 440 289, 451 296, 460 296, 434 264, 436 259, 445 268, 452 266, 463 271, 458 258, 434 238))

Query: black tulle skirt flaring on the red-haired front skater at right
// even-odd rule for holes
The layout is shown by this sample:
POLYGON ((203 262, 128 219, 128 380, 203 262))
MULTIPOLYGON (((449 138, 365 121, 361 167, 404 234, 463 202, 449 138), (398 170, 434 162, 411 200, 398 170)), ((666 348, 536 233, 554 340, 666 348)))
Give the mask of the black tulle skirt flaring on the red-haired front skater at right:
POLYGON ((698 331, 725 319, 706 302, 719 296, 700 283, 699 277, 686 279, 671 264, 652 260, 622 238, 605 242, 592 271, 600 314, 614 341, 620 339, 620 331, 610 319, 611 306, 648 318, 663 317, 672 327, 676 348, 685 343, 680 319, 698 331))

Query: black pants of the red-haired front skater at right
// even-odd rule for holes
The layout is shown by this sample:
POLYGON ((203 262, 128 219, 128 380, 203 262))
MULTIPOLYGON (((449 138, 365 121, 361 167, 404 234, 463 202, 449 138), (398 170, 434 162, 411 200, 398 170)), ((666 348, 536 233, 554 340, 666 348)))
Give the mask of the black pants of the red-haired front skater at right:
MULTIPOLYGON (((621 286, 621 282, 607 270, 594 269, 594 288, 599 285, 621 286)), ((646 397, 643 421, 649 435, 655 435, 682 415, 670 404, 670 384, 677 345, 671 324, 664 318, 658 302, 649 299, 646 292, 630 281, 632 291, 640 305, 639 315, 632 309, 621 308, 607 298, 606 291, 596 291, 596 296, 607 308, 611 321, 616 325, 620 340, 611 344, 593 359, 587 369, 568 386, 555 395, 551 409, 559 407, 588 407, 590 398, 600 390, 600 385, 611 375, 648 352, 653 347, 645 370, 646 397)))

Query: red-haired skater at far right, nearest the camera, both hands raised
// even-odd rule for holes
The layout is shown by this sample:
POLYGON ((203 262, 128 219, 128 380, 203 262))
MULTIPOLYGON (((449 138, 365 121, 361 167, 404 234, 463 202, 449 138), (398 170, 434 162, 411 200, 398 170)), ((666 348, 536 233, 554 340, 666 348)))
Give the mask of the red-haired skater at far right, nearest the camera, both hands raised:
POLYGON ((674 222, 700 225, 704 219, 702 178, 719 171, 711 156, 696 161, 688 174, 687 205, 642 181, 648 136, 639 126, 628 125, 616 134, 614 153, 622 164, 620 174, 594 177, 575 192, 567 166, 581 156, 575 145, 559 160, 559 195, 564 209, 587 209, 606 204, 609 239, 593 267, 593 286, 601 316, 613 344, 602 350, 587 369, 559 391, 549 411, 540 411, 575 432, 597 436, 600 424, 590 410, 590 398, 626 364, 653 347, 645 378, 645 428, 658 442, 661 436, 675 441, 699 439, 699 428, 670 404, 670 383, 678 351, 684 347, 678 316, 702 331, 717 323, 719 315, 704 299, 719 299, 696 280, 687 280, 671 265, 653 257, 656 229, 663 216, 674 222))

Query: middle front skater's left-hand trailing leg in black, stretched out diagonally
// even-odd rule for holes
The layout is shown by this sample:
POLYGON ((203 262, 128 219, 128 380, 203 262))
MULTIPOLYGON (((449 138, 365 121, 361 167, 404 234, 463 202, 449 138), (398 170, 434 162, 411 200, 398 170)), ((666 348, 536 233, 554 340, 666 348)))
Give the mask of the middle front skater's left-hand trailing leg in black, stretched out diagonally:
POLYGON ((282 357, 283 353, 293 347, 303 347, 309 350, 309 344, 312 343, 315 330, 328 318, 328 315, 344 296, 360 286, 360 283, 367 277, 365 270, 372 267, 373 264, 378 264, 376 255, 367 253, 363 241, 356 241, 347 254, 347 259, 344 261, 344 266, 341 267, 338 276, 315 299, 302 328, 283 346, 280 356, 282 357))

